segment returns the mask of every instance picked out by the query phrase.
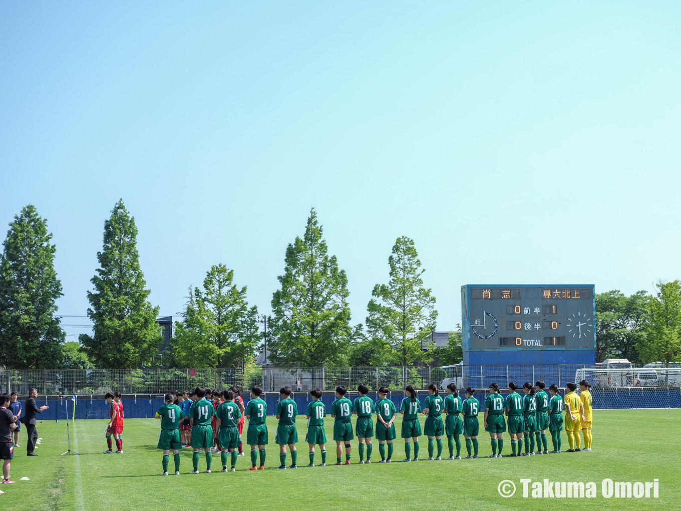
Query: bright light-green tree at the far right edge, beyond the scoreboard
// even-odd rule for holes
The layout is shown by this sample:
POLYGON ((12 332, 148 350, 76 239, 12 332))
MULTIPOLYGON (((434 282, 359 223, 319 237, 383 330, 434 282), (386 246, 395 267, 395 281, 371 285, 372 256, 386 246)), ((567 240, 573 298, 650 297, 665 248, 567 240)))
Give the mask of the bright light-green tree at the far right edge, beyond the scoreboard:
POLYGON ((639 345, 643 362, 681 359, 681 283, 658 283, 658 292, 646 305, 646 337, 639 345))

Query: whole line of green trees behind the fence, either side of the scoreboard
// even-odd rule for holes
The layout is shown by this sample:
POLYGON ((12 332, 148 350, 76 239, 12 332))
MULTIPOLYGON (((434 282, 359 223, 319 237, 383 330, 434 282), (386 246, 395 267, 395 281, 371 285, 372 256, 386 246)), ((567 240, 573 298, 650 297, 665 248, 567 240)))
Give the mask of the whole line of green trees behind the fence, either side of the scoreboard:
MULTIPOLYGON (((11 369, 121 369, 161 363, 159 307, 148 300, 137 249, 138 230, 123 200, 104 222, 99 268, 87 293, 92 335, 65 341, 56 301, 62 294, 54 270, 57 248, 47 221, 32 205, 10 222, 0 255, 0 366, 11 369)), ((234 283, 234 270, 212 265, 201 285, 190 286, 176 322, 165 367, 247 367, 261 345, 277 365, 455 364, 461 337, 437 352, 436 299, 423 280, 414 242, 396 239, 385 283, 377 283, 364 324, 351 323, 348 279, 323 238, 311 209, 303 236, 285 251, 279 288, 272 294, 267 337, 247 286, 234 283)), ((597 360, 671 362, 681 358, 681 283, 659 282, 656 293, 597 294, 597 360)))

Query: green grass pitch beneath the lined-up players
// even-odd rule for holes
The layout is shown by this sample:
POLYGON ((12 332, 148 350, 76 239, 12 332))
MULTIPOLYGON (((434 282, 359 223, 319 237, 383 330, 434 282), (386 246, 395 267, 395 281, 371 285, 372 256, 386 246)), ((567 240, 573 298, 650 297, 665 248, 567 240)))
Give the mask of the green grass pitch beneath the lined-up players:
MULTIPOLYGON (((127 419, 123 437, 124 454, 101 454, 106 448, 102 432, 104 420, 76 421, 72 429, 72 448, 80 456, 59 456, 66 450, 64 422, 38 424, 42 445, 39 456, 25 455, 25 432, 12 463, 12 479, 0 489, 3 510, 148 510, 178 509, 268 509, 279 510, 353 510, 366 506, 402 510, 432 507, 466 510, 545 510, 580 511, 616 507, 618 510, 679 509, 681 461, 678 433, 680 409, 595 412, 592 452, 524 456, 522 458, 419 461, 419 463, 375 463, 380 459, 374 448, 371 465, 358 465, 357 441, 352 442, 351 466, 274 470, 279 465, 279 448, 268 446, 268 468, 247 471, 247 456, 240 457, 236 474, 219 474, 219 455, 213 456, 213 473, 190 475, 191 450, 183 449, 180 476, 161 476, 161 452, 156 449, 159 421, 127 419), (676 447, 674 447, 676 446, 676 447), (19 481, 27 476, 30 481, 19 481), (595 499, 522 498, 520 478, 597 482, 595 499), (659 499, 605 499, 601 480, 652 481, 659 479, 659 499), (498 495, 502 480, 513 480, 518 492, 511 498, 498 495), (28 500, 27 500, 28 499, 28 500)), ((397 427, 399 431, 400 419, 397 427)), ((270 442, 274 441, 276 421, 269 418, 270 442)), ((332 438, 332 422, 327 420, 327 435, 332 438)), ((299 465, 308 463, 304 444, 306 423, 298 419, 301 442, 299 465)), ((481 429, 481 432, 483 430, 481 429)), ((244 431, 245 437, 245 431, 244 431)), ((479 437, 480 456, 491 452, 487 433, 479 437)), ((375 441, 376 442, 376 441, 375 441)), ((550 442, 550 439, 549 439, 550 442)), ((445 438, 447 456, 447 442, 445 438)), ((428 457, 428 442, 421 439, 422 459, 428 457)), ((563 450, 567 437, 563 434, 563 450)), ((464 446, 465 454, 465 446, 464 446)), ((335 445, 328 444, 328 462, 335 462, 335 445)), ((505 435, 504 452, 509 453, 505 435)), ((404 458, 401 439, 396 440, 394 460, 404 458)), ((290 455, 288 459, 290 463, 290 455)), ((319 463, 319 454, 315 460, 319 463)), ((172 469, 172 457, 171 457, 172 469)), ((202 455, 200 470, 206 469, 202 455)))

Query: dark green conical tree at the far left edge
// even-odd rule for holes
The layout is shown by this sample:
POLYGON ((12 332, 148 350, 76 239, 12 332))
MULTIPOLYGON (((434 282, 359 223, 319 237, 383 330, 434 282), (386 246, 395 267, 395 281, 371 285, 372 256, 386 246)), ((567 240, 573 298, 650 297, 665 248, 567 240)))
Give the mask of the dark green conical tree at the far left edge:
POLYGON ((46 369, 61 356, 65 333, 54 317, 61 281, 50 241, 46 220, 31 204, 10 223, 0 255, 0 366, 46 369))

